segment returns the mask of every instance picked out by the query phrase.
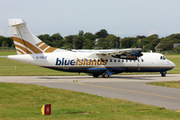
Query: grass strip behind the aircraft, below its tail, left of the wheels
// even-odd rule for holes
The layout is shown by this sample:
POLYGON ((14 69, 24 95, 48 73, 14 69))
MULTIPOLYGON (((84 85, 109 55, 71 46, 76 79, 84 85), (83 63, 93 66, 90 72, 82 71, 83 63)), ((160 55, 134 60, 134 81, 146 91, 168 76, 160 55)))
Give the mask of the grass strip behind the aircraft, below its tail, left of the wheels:
MULTIPOLYGON (((0 76, 59 76, 59 75, 78 75, 78 73, 55 71, 34 65, 0 58, 0 76)), ((87 75, 82 73, 81 75, 87 75)))

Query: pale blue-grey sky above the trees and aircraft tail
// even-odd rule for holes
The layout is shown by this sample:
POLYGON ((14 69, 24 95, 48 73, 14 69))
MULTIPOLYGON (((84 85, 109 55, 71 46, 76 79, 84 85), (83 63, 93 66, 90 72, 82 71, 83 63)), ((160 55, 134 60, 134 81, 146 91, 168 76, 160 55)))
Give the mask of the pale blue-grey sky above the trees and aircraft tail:
POLYGON ((0 35, 11 36, 8 19, 27 22, 35 35, 95 34, 166 37, 180 33, 180 0, 0 0, 0 35))

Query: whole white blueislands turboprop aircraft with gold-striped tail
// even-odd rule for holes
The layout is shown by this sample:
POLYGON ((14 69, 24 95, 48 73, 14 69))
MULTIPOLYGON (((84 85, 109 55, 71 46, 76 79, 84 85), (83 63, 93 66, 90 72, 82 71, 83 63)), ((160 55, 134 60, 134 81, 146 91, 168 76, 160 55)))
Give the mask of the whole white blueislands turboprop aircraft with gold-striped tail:
POLYGON ((122 72, 160 72, 162 77, 175 64, 159 53, 143 53, 140 48, 67 51, 51 47, 31 33, 25 21, 9 19, 18 55, 8 59, 66 72, 91 73, 94 77, 122 72))

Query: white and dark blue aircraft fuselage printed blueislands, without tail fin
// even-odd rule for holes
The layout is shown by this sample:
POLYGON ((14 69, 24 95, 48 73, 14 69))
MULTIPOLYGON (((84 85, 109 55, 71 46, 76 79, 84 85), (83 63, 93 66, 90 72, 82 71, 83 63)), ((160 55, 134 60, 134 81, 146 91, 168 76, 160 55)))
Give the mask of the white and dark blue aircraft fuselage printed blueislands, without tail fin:
POLYGON ((137 60, 98 56, 92 52, 58 52, 43 54, 11 55, 8 59, 55 70, 102 74, 104 71, 164 72, 175 64, 160 53, 143 53, 137 60))

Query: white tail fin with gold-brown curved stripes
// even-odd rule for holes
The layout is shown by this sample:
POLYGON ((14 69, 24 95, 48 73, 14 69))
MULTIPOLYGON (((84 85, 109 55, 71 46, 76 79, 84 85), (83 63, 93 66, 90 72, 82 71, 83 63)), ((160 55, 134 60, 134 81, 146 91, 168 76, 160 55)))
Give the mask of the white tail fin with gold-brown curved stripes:
POLYGON ((66 51, 45 44, 31 33, 26 22, 21 19, 8 19, 8 23, 18 55, 66 51))

